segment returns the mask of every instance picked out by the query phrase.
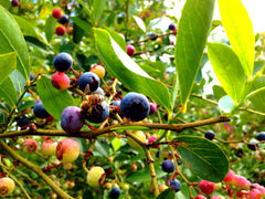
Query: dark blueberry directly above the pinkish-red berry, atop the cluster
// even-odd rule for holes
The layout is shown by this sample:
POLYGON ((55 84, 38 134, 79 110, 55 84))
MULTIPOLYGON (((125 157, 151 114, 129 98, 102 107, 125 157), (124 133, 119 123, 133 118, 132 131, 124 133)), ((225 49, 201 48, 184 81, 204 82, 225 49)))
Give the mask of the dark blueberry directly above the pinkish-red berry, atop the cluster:
POLYGON ((72 67, 73 65, 73 59, 68 53, 62 52, 59 53, 53 59, 53 66, 59 72, 66 72, 72 67))

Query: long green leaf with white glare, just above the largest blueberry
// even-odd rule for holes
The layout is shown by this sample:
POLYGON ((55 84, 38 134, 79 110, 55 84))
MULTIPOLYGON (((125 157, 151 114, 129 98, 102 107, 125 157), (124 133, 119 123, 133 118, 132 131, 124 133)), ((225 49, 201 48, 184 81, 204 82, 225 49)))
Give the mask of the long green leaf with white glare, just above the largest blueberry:
POLYGON ((107 72, 117 77, 128 90, 142 93, 170 111, 169 92, 166 85, 142 71, 107 31, 94 29, 94 32, 98 55, 107 72))

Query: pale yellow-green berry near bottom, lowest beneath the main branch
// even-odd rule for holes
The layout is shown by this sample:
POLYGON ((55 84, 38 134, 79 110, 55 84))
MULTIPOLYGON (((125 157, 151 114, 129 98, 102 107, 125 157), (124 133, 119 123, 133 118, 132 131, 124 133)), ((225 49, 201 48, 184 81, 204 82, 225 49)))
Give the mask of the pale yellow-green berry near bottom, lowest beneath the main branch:
POLYGON ((105 182, 105 179, 106 179, 106 172, 99 166, 92 167, 86 177, 87 184, 91 187, 99 187, 105 182))

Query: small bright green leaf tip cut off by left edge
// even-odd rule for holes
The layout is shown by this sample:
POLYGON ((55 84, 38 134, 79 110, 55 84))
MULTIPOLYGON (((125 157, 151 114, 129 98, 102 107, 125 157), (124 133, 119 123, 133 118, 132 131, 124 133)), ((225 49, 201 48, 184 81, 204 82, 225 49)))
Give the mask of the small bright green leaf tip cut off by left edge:
POLYGON ((0 54, 0 84, 12 73, 17 66, 17 53, 11 52, 7 54, 0 54))

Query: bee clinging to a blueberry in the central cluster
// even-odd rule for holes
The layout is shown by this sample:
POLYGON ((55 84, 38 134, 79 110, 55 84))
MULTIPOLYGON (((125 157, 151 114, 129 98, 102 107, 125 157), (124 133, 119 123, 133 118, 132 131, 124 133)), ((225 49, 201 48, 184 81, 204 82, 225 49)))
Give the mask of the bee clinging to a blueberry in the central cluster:
MULTIPOLYGON (((98 106, 102 106, 100 103, 105 101, 105 96, 99 94, 92 94, 89 91, 89 84, 86 85, 84 93, 83 93, 83 101, 81 103, 81 114, 86 117, 91 115, 93 109, 95 108, 97 112, 98 106)), ((102 109, 105 109, 102 106, 102 109)))

